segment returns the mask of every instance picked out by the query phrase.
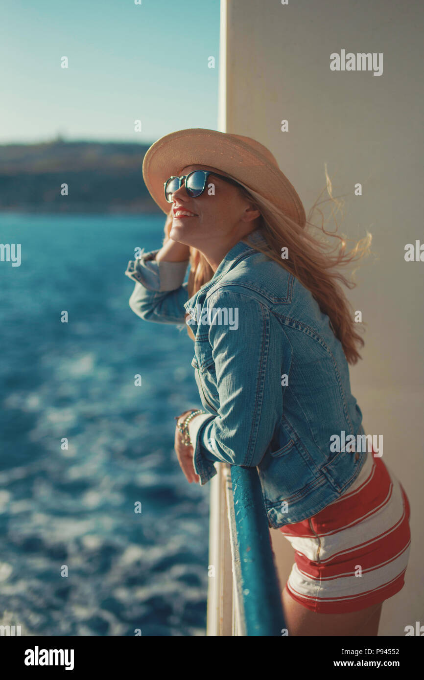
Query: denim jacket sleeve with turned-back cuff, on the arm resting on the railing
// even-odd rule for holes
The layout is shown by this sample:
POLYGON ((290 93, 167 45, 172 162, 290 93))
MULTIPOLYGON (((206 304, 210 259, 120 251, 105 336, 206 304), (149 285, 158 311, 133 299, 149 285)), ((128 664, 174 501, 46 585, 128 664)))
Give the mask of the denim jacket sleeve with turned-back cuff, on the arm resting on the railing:
POLYGON ((248 294, 219 290, 210 307, 238 309, 238 328, 210 325, 216 371, 216 416, 189 423, 193 462, 201 484, 216 474, 213 463, 257 466, 282 417, 284 330, 270 310, 248 294), (196 422, 197 421, 197 422, 196 422))

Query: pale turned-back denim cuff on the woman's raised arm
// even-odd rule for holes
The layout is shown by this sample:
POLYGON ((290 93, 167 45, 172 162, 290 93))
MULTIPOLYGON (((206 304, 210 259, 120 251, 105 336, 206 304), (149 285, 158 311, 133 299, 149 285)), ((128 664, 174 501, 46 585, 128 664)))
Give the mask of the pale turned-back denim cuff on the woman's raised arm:
POLYGON ((129 260, 125 275, 148 290, 165 292, 177 290, 184 283, 189 260, 183 262, 157 262, 159 250, 144 252, 135 260, 129 260))

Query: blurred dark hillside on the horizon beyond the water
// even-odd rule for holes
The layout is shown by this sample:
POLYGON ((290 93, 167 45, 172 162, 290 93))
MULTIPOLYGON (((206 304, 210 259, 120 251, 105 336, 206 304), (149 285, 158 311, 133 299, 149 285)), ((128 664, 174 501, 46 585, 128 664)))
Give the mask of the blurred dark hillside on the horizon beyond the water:
POLYGON ((149 145, 63 141, 0 145, 0 211, 160 212, 143 182, 149 145), (68 196, 61 196, 61 184, 68 196))

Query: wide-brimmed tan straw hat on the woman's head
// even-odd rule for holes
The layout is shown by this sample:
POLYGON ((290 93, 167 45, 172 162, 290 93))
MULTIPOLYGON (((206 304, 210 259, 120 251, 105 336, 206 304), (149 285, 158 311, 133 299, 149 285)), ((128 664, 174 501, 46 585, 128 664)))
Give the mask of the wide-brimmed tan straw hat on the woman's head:
POLYGON ((272 201, 299 226, 305 226, 306 215, 297 192, 270 150, 259 141, 203 128, 178 130, 155 141, 144 156, 143 178, 165 214, 171 204, 165 199, 163 182, 181 175, 187 165, 208 165, 230 175, 272 201))

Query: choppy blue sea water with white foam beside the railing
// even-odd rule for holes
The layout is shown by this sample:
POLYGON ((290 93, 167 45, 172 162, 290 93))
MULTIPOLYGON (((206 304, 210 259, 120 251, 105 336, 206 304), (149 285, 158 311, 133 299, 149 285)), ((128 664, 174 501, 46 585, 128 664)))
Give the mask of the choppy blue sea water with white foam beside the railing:
POLYGON ((124 273, 164 222, 0 215, 22 248, 0 262, 0 621, 22 634, 205 634, 209 486, 174 452, 193 341, 138 318, 124 273))

